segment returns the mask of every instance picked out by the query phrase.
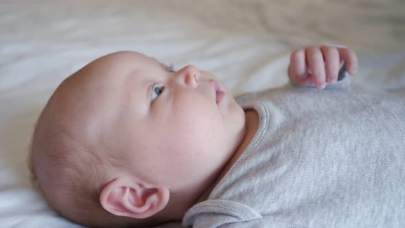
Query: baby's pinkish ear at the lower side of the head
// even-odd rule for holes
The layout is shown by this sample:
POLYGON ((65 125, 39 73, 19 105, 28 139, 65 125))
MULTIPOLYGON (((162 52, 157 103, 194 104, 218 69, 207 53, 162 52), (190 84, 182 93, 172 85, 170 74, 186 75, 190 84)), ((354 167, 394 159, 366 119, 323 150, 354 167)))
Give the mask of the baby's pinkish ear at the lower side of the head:
POLYGON ((160 212, 169 201, 166 187, 144 187, 140 183, 115 179, 100 194, 102 207, 116 216, 148 218, 160 212))

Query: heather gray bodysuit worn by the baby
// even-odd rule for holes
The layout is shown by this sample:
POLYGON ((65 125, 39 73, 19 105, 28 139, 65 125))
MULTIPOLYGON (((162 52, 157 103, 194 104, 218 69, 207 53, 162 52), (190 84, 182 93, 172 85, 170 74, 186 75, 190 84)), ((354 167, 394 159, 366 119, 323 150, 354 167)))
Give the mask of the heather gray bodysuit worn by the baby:
POLYGON ((350 80, 238 98, 257 133, 183 225, 405 227, 405 99, 350 80))

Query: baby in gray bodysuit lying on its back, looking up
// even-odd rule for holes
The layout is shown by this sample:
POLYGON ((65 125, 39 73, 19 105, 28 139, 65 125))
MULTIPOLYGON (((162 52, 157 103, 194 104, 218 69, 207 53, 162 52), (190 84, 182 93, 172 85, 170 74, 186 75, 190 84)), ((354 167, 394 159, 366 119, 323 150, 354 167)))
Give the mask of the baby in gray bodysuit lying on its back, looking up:
POLYGON ((89 227, 404 226, 405 100, 351 92, 356 68, 351 49, 305 47, 290 84, 235 100, 196 67, 103 56, 40 114, 34 182, 89 227))

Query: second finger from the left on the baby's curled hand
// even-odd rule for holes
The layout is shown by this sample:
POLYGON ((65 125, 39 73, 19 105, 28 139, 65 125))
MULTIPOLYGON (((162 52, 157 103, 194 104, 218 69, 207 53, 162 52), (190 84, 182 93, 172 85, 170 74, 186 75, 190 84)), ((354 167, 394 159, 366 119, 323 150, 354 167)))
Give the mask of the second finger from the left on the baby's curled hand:
POLYGON ((319 89, 325 88, 325 64, 323 62, 322 52, 319 47, 308 47, 305 49, 305 56, 315 85, 319 89))

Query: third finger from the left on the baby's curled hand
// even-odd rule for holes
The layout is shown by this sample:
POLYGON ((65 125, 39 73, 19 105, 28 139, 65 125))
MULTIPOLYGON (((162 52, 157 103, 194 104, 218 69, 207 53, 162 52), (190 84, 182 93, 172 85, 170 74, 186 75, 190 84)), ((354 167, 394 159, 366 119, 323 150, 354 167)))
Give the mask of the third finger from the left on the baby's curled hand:
POLYGON ((323 46, 321 47, 323 58, 326 65, 326 82, 335 83, 338 80, 339 74, 339 52, 336 47, 323 46))

